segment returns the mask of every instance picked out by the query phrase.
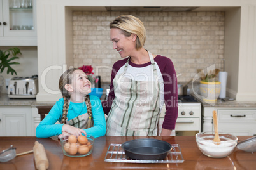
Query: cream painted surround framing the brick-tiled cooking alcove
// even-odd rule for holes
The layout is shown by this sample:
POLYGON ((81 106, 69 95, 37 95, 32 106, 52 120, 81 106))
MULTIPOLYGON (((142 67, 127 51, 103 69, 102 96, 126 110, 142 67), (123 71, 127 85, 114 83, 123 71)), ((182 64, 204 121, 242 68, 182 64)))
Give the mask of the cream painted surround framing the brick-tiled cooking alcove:
MULTIPOLYGON (((41 75, 45 70, 52 65, 58 65, 62 67, 70 60, 67 54, 70 51, 67 50, 68 44, 66 43, 66 7, 70 6, 203 6, 203 7, 239 7, 241 8, 241 30, 239 31, 239 39, 234 41, 239 42, 239 48, 231 44, 231 48, 234 49, 239 56, 234 60, 239 62, 238 76, 234 76, 234 82, 237 82, 238 86, 234 85, 232 93, 236 95, 236 99, 239 101, 252 101, 256 100, 256 76, 255 67, 255 1, 250 0, 225 0, 225 1, 212 1, 212 0, 181 0, 181 1, 148 1, 148 0, 131 0, 131 1, 117 1, 117 0, 98 0, 98 1, 83 1, 83 0, 38 0, 37 1, 37 19, 38 21, 38 74, 39 74, 39 93, 37 95, 37 101, 56 101, 60 95, 52 93, 52 91, 46 91, 46 89, 40 84, 43 82, 47 85, 47 88, 57 89, 57 80, 62 74, 61 69, 55 69, 54 72, 48 72, 45 79, 41 79, 41 75), (254 33, 254 34, 253 34, 254 33), (41 82, 41 83, 40 83, 41 82)), ((75 7, 74 7, 75 8, 75 7)), ((232 18, 232 17, 231 17, 232 18)), ((236 19, 237 20, 237 19, 236 19)), ((227 30, 229 31, 229 30, 227 30)), ((232 51, 226 51, 227 57, 232 57, 232 51)), ((224 56, 225 58, 225 56, 224 56)), ((236 66, 235 66, 236 67, 236 66)), ((232 69, 231 69, 232 70, 232 69)), ((230 72, 229 74, 236 74, 236 72, 230 72)), ((233 82, 233 80, 232 80, 233 82)), ((232 87, 232 86, 231 86, 232 87)))

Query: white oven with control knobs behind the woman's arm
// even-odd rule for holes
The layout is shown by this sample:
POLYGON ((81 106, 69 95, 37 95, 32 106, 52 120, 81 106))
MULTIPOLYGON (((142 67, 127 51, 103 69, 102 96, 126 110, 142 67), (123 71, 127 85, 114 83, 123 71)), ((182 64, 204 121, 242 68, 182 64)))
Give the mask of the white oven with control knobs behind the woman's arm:
MULTIPOLYGON (((165 105, 159 117, 159 135, 166 114, 165 105)), ((194 136, 201 131, 201 103, 192 95, 178 96, 178 118, 171 136, 194 136)))

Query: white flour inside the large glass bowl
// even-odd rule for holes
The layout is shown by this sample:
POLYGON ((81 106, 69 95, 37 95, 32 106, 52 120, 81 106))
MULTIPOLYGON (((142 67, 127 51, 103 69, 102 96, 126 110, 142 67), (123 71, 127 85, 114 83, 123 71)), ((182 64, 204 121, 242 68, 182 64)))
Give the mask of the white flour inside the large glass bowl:
POLYGON ((232 140, 221 141, 220 145, 215 145, 212 140, 197 142, 199 149, 209 157, 226 157, 236 147, 236 142, 232 140))

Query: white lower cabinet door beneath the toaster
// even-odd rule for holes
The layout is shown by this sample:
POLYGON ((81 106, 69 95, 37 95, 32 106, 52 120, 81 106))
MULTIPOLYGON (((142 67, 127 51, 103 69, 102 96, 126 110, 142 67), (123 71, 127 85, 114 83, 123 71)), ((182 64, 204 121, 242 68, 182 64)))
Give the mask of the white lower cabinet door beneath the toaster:
POLYGON ((34 136, 31 122, 31 107, 0 107, 0 136, 34 136))

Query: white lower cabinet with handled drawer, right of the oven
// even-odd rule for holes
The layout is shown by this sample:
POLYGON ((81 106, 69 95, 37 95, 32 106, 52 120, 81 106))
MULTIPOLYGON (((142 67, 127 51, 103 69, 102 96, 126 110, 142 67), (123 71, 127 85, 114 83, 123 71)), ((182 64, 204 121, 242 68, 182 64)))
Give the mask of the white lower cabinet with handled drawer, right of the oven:
POLYGON ((256 135, 256 108, 204 107, 203 131, 213 131, 213 110, 218 114, 218 131, 236 136, 256 135))

